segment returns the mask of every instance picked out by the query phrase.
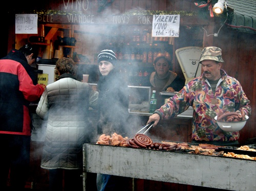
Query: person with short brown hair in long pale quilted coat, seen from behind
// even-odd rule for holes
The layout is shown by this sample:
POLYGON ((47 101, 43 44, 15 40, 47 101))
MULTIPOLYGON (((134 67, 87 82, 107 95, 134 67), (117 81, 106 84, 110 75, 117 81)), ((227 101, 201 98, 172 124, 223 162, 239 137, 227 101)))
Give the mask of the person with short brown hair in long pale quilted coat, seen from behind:
POLYGON ((48 120, 41 168, 49 170, 50 190, 62 190, 63 171, 65 190, 82 190, 82 145, 90 142, 87 117, 89 107, 97 107, 98 92, 76 80, 72 59, 58 59, 56 69, 58 80, 46 87, 36 108, 48 120))

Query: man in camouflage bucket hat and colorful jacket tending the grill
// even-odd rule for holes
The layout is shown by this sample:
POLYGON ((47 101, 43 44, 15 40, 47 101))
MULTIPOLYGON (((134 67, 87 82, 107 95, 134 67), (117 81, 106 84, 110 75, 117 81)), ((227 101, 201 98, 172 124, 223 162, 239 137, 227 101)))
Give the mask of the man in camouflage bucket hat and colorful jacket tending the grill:
POLYGON ((193 107, 192 142, 197 144, 238 146, 239 131, 223 131, 214 120, 224 112, 250 115, 250 101, 239 81, 221 69, 224 60, 221 49, 215 46, 202 50, 200 61, 203 74, 188 82, 176 96, 157 109, 148 119, 154 127, 160 120, 168 120, 193 107))

